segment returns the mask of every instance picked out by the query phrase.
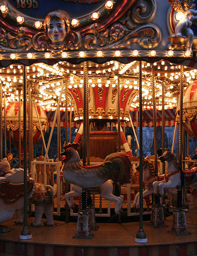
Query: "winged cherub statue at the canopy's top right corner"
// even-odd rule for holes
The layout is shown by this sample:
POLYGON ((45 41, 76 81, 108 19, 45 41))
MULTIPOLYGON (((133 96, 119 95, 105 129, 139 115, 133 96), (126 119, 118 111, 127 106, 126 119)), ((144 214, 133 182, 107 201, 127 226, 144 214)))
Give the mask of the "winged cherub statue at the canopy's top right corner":
POLYGON ((192 52, 192 44, 194 41, 194 33, 191 27, 192 23, 197 21, 196 5, 194 0, 168 0, 168 2, 177 13, 182 13, 174 29, 174 36, 187 37, 185 55, 189 56, 192 52))

